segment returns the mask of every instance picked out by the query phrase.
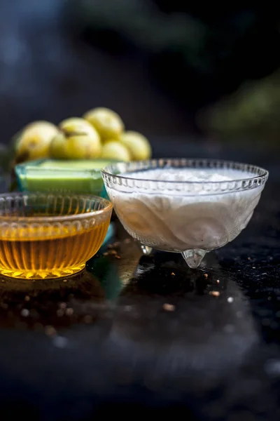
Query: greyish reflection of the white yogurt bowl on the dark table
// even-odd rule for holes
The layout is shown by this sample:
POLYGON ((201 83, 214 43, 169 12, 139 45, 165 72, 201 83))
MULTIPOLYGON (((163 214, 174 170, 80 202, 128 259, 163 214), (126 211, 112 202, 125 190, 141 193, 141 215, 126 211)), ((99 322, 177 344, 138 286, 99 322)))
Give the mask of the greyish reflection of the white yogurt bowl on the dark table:
POLYGON ((109 361, 123 363, 132 380, 145 377, 160 389, 203 389, 230 376, 258 343, 248 300, 237 283, 223 278, 216 283, 215 272, 206 279, 187 270, 186 277, 182 265, 171 269, 146 262, 118 299, 106 342, 109 361))

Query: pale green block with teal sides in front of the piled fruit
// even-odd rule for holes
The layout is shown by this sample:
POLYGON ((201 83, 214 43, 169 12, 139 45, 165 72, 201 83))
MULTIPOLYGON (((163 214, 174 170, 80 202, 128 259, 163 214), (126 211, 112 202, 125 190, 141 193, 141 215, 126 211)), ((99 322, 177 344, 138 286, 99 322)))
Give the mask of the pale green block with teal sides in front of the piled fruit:
POLYGON ((65 190, 104 196, 101 169, 111 160, 40 160, 15 166, 20 190, 50 192, 65 190))

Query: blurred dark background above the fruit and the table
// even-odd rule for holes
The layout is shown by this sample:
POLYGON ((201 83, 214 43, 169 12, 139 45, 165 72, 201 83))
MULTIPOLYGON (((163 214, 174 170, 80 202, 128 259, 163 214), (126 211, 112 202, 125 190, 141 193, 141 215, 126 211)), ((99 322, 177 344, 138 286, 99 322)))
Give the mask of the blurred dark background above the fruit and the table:
POLYGON ((278 147, 279 47, 276 3, 1 0, 1 142, 105 106, 152 142, 278 147))

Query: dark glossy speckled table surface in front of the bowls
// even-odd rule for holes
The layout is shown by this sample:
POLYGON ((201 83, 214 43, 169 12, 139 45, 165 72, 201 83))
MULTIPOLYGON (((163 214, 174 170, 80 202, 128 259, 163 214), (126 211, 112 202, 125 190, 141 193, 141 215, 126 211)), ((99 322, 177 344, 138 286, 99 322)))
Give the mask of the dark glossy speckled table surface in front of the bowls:
POLYGON ((115 221, 80 274, 1 278, 2 419, 279 420, 280 179, 268 169, 248 227, 197 270, 143 256, 115 221))

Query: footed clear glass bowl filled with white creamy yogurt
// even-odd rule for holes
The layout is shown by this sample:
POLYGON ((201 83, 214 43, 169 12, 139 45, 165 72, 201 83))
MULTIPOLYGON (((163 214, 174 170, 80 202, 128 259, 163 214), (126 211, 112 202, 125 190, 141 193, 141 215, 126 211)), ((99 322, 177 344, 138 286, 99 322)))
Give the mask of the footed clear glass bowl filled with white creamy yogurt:
POLYGON ((268 171, 232 161, 153 159, 113 163, 102 177, 120 222, 144 253, 181 253, 195 268, 246 227, 268 171))

